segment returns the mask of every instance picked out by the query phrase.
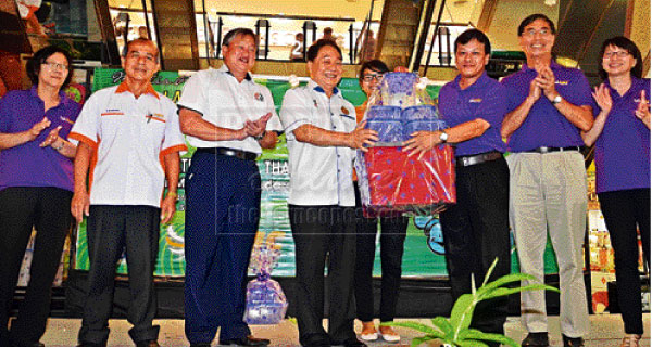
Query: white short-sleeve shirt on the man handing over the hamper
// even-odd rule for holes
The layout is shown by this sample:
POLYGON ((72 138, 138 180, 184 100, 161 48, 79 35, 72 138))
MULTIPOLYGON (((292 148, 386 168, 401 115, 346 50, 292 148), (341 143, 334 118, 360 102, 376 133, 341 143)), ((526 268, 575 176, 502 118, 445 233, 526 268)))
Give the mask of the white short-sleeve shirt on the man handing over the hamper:
POLYGON ((350 147, 317 146, 299 142, 292 131, 302 125, 351 132, 355 129, 355 108, 336 89, 328 98, 324 89, 310 80, 306 86, 286 92, 280 108, 290 166, 292 205, 355 206, 353 158, 350 147))

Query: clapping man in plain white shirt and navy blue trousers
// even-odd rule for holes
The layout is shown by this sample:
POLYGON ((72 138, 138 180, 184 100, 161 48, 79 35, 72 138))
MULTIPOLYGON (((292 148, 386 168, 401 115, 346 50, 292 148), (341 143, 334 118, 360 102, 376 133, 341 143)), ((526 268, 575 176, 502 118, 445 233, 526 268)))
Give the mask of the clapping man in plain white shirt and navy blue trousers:
POLYGON ((247 267, 259 227, 261 177, 255 158, 276 145, 280 121, 269 90, 249 70, 258 41, 252 30, 224 37, 224 65, 186 81, 181 131, 197 147, 186 175, 186 337, 211 346, 265 346, 243 321, 247 267))

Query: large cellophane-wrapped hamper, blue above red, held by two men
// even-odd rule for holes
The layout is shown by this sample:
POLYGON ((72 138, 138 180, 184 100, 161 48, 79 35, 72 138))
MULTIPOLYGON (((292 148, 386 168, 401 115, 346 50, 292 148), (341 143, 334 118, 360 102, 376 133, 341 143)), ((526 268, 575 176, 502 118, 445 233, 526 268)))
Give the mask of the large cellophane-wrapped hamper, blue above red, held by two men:
POLYGON ((425 88, 418 85, 415 74, 386 74, 367 102, 365 127, 376 130, 379 140, 367 152, 358 151, 355 170, 368 217, 431 215, 456 201, 450 145, 438 145, 421 159, 402 151, 403 141, 415 131, 447 128, 425 88))

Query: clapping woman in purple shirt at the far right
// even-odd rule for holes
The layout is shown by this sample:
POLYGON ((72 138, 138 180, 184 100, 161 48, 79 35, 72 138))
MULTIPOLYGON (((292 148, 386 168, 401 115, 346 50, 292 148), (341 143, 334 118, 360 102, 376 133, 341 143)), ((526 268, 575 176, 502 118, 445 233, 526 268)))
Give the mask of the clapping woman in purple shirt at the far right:
POLYGON ((620 346, 638 347, 643 323, 637 226, 650 265, 650 80, 641 79, 639 49, 622 36, 604 41, 599 65, 604 82, 593 98, 600 114, 582 139, 595 143, 595 192, 614 248, 625 323, 620 346))

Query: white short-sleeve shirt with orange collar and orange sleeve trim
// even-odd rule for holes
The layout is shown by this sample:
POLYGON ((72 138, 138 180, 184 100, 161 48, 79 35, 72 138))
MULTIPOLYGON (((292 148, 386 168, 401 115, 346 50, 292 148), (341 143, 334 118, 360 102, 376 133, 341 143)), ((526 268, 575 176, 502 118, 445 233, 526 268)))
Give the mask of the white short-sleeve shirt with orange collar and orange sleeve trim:
POLYGON ((163 157, 186 151, 176 105, 148 86, 138 99, 123 82, 95 92, 68 139, 93 151, 91 205, 161 206, 163 157))

